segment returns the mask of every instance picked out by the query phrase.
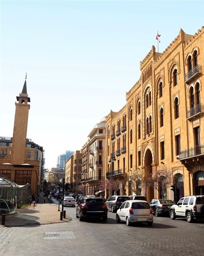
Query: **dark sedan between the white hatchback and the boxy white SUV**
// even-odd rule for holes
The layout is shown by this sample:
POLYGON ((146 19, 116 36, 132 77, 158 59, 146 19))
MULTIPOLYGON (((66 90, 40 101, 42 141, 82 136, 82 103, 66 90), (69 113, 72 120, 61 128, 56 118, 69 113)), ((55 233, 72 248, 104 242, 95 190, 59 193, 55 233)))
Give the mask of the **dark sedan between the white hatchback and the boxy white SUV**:
POLYGON ((149 205, 153 214, 158 217, 161 214, 169 214, 169 209, 174 204, 175 202, 169 199, 153 199, 149 205))

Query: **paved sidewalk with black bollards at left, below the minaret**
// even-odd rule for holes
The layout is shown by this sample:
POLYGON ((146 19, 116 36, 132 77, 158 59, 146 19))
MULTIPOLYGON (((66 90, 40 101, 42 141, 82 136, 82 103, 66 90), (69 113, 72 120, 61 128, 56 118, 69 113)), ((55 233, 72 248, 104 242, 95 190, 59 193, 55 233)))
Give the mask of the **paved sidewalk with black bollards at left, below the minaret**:
MULTIPOLYGON (((49 204, 46 196, 39 196, 38 198, 39 202, 35 206, 31 204, 25 209, 17 209, 16 214, 6 215, 5 226, 43 225, 70 222, 72 220, 67 212, 66 218, 60 220, 60 212, 58 212, 57 204, 49 204)), ((4 226, 0 225, 0 227, 4 226)))

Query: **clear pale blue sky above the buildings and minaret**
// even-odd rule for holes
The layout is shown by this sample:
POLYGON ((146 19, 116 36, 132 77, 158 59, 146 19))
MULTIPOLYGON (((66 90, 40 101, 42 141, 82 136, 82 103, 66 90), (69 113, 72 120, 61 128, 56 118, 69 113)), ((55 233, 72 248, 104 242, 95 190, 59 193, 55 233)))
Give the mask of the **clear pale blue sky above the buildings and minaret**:
POLYGON ((203 1, 1 1, 0 136, 13 135, 27 72, 27 138, 57 155, 80 150, 110 109, 126 104, 139 62, 204 25, 203 1))

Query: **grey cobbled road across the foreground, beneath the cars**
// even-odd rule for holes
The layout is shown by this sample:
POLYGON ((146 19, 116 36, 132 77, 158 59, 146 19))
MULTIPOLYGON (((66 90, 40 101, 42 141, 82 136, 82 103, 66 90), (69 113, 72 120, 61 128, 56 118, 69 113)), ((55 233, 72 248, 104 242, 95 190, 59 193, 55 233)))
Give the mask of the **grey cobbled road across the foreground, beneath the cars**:
POLYGON ((116 223, 108 211, 108 221, 76 218, 76 208, 65 207, 72 221, 10 230, 1 256, 130 256, 204 255, 204 222, 187 223, 154 217, 153 226, 116 223), (7 244, 7 245, 6 245, 7 244))

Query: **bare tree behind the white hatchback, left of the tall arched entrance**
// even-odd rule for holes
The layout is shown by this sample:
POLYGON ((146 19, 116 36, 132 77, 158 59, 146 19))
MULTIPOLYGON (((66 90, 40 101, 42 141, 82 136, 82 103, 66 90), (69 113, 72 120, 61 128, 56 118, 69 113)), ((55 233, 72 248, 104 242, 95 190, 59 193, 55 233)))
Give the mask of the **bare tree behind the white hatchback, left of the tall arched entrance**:
POLYGON ((127 180, 129 182, 129 186, 131 186, 132 191, 139 195, 141 193, 141 189, 145 184, 145 176, 144 172, 139 168, 136 170, 132 170, 128 172, 127 180))

